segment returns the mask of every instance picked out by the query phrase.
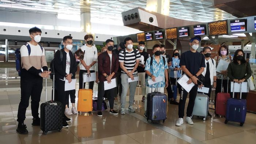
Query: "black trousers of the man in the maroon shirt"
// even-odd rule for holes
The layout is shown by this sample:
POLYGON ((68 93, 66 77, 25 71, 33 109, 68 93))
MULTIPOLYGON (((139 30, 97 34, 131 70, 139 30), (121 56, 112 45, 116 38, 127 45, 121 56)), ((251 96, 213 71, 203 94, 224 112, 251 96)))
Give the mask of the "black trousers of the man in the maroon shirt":
POLYGON ((104 82, 99 82, 99 84, 98 84, 98 101, 97 101, 97 110, 98 111, 102 110, 102 101, 103 101, 103 96, 105 93, 107 93, 107 95, 108 95, 110 109, 113 109, 115 92, 116 92, 116 87, 105 91, 104 90, 104 82))

